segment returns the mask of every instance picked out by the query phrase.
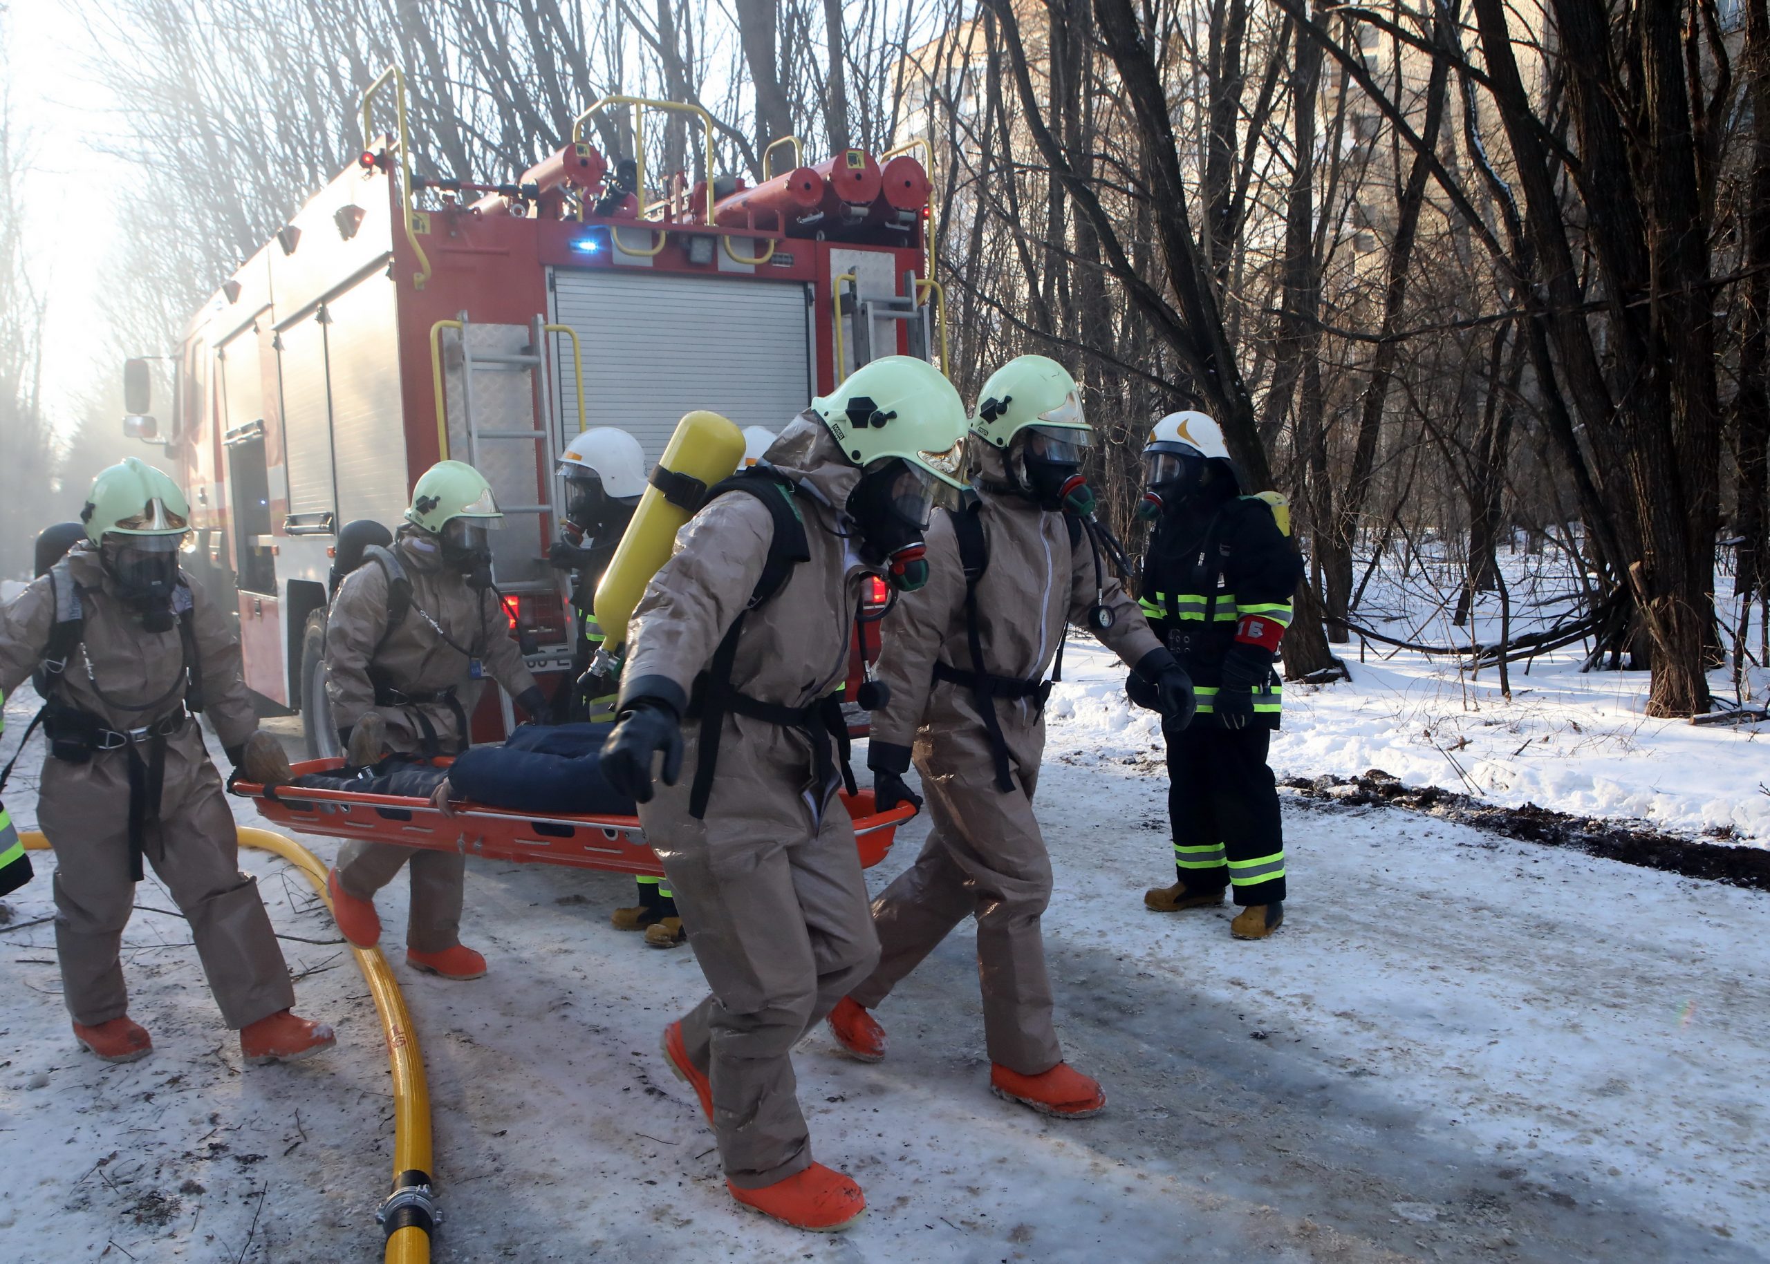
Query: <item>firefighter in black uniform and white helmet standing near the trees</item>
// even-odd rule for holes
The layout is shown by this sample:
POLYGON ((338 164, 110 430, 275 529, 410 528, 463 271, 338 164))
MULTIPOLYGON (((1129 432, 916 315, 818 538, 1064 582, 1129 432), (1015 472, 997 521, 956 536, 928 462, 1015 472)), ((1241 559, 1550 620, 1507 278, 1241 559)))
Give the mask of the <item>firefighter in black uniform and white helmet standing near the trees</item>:
MULTIPOLYGON (((1172 412, 1143 448, 1140 515, 1149 625, 1191 674, 1198 715, 1163 731, 1177 882, 1143 894, 1163 913, 1209 908, 1235 889, 1235 938, 1266 938, 1285 917, 1285 839, 1267 745, 1283 701, 1273 660, 1290 625, 1303 563, 1276 492, 1243 496, 1223 430, 1172 412)), ((1140 696, 1133 674, 1127 690, 1140 696)))

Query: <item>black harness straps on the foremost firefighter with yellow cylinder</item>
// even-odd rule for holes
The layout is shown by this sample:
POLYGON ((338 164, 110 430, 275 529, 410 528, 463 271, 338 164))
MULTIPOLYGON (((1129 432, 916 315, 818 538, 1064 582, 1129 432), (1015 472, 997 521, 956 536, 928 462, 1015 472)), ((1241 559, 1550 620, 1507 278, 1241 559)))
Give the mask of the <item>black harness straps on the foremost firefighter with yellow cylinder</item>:
MULTIPOLYGON (((763 574, 750 590, 750 600, 731 621, 713 660, 694 680, 694 692, 689 699, 685 719, 701 721, 701 744, 694 770, 694 784, 689 791, 689 814, 696 820, 706 816, 706 804, 713 793, 713 775, 719 770, 719 738, 726 724, 726 713, 745 715, 765 724, 795 728, 811 742, 811 754, 818 775, 818 786, 828 786, 835 779, 837 767, 843 774, 843 786, 850 795, 857 793, 855 772, 848 763, 848 721, 843 717, 841 694, 825 694, 807 706, 784 706, 766 703, 740 692, 731 683, 731 671, 738 659, 738 639, 743 634, 743 618, 763 602, 775 597, 793 577, 793 566, 811 561, 811 538, 805 535, 805 519, 795 503, 796 485, 786 474, 768 466, 740 469, 731 478, 715 483, 706 492, 701 505, 726 492, 743 492, 754 496, 773 519, 773 531, 768 540, 768 558, 763 574)), ((857 623, 860 620, 857 613, 857 623)))

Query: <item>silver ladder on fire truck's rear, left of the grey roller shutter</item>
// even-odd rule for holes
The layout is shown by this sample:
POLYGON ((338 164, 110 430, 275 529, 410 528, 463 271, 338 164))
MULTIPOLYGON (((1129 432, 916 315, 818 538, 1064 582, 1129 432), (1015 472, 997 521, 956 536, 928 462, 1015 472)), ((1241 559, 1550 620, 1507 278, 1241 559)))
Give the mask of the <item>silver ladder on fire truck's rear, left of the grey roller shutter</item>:
MULTIPOLYGON (((430 329, 430 352, 432 352, 432 370, 435 375, 437 391, 437 432, 442 439, 442 453, 448 455, 448 416, 442 397, 442 356, 439 347, 439 336, 442 329, 455 329, 460 338, 460 421, 467 432, 467 464, 474 469, 483 469, 481 457, 490 444, 497 443, 531 443, 540 444, 536 451, 538 469, 542 474, 542 485, 547 489, 547 499, 536 503, 515 503, 504 505, 499 501, 499 510, 504 517, 535 515, 540 519, 538 529, 540 538, 547 540, 552 536, 552 528, 559 522, 559 506, 554 499, 554 489, 558 480, 554 478, 554 467, 559 464, 559 451, 556 444, 556 434, 552 425, 552 409, 549 400, 552 393, 547 389, 547 343, 545 336, 549 333, 559 333, 572 338, 572 368, 573 382, 577 386, 577 428, 579 432, 586 427, 584 414, 584 356, 577 340, 577 331, 565 324, 547 324, 545 317, 533 317, 529 320, 529 342, 520 351, 501 351, 487 352, 474 351, 473 347, 473 320, 469 320, 466 312, 460 312, 453 320, 437 320, 430 329), (481 418, 473 407, 473 379, 476 372, 501 372, 501 374, 527 374, 533 388, 535 411, 531 418, 540 418, 540 425, 529 425, 526 428, 508 428, 508 427, 487 427, 481 425, 481 418)), ((492 565, 492 582, 497 584, 499 591, 508 595, 515 593, 550 593, 554 591, 554 582, 550 577, 543 579, 515 579, 512 582, 499 582, 497 565, 492 565)), ((504 728, 515 728, 515 712, 510 706, 510 696, 499 690, 499 705, 504 712, 504 728)))

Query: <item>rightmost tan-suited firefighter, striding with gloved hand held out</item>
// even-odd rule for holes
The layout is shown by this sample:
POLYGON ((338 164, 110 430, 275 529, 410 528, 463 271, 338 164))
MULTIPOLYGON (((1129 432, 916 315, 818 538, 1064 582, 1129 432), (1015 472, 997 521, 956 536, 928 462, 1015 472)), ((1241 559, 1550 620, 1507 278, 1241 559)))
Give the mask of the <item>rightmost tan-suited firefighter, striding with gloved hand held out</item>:
POLYGON ((989 1085, 1058 1117, 1106 1105, 1062 1059, 1041 915, 1051 862, 1032 811, 1044 754, 1044 680, 1066 625, 1090 628, 1150 682, 1184 724, 1191 685, 1104 570, 1092 494, 1080 478, 1090 437, 1074 379, 1044 356, 1004 365, 972 427, 975 499, 927 531, 929 582, 885 616, 867 767, 881 807, 912 797, 912 758, 933 829, 917 862, 873 903, 880 965, 830 1014, 844 1052, 867 1062, 885 1032, 867 1013, 965 917, 977 919, 989 1085), (1067 512, 1066 512, 1067 510, 1067 512))

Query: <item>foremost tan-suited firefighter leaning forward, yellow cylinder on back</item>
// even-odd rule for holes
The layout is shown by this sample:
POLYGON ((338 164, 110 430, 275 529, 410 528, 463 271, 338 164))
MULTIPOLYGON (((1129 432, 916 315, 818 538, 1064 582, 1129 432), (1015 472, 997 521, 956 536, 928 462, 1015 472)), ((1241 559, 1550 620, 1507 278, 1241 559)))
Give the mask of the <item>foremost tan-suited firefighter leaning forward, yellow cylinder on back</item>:
POLYGON ((678 533, 634 611, 602 756, 639 800, 712 990, 664 1053, 713 1124, 733 1197, 800 1229, 866 1207, 812 1161, 788 1057, 878 960, 835 793, 835 690, 871 577, 926 581, 922 529, 936 480, 959 485, 963 434, 958 393, 906 356, 812 400, 678 533))

